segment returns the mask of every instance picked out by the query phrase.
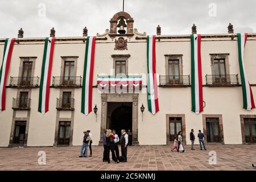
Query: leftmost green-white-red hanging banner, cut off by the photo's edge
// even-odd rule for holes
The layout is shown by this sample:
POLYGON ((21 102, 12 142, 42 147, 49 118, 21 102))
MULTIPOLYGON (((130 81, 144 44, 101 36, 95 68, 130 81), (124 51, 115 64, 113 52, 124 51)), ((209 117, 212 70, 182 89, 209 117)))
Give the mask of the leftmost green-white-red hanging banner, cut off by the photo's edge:
POLYGON ((3 61, 0 69, 0 113, 5 110, 5 84, 11 62, 11 54, 13 53, 14 40, 14 38, 6 39, 5 48, 3 49, 3 61))

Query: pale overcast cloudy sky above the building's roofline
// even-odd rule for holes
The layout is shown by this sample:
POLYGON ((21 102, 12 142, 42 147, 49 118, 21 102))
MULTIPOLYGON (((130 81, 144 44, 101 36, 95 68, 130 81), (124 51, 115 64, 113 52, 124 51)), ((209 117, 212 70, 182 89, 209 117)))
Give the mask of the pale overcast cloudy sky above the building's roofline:
MULTIPOLYGON (((192 24, 200 34, 256 32, 255 0, 125 0, 125 11, 134 18, 139 32, 162 35, 191 34, 192 24), (245 3, 246 2, 246 3, 245 3)), ((20 27, 24 37, 82 36, 105 32, 109 20, 122 11, 122 0, 0 0, 0 38, 16 37, 20 27)))

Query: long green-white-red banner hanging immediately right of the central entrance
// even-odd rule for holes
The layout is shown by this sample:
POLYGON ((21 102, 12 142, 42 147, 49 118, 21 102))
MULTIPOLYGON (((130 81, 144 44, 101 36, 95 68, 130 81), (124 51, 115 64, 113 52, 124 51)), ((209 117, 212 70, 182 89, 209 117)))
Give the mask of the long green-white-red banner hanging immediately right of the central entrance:
POLYGON ((147 36, 147 105, 152 114, 159 111, 155 65, 155 35, 147 36))

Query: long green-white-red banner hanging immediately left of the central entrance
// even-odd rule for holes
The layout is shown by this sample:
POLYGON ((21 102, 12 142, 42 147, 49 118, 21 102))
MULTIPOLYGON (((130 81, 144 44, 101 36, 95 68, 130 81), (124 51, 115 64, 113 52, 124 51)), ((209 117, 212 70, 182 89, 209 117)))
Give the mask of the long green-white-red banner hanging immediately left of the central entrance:
POLYGON ((84 76, 82 77, 81 112, 88 115, 92 111, 92 82, 96 36, 86 38, 84 76))

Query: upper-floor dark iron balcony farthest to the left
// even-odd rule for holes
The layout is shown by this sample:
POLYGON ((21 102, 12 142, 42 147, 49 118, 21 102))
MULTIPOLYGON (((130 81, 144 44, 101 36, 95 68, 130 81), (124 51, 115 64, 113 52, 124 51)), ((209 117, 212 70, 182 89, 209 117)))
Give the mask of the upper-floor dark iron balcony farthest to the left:
POLYGON ((11 77, 9 86, 11 88, 38 88, 39 77, 11 77))

